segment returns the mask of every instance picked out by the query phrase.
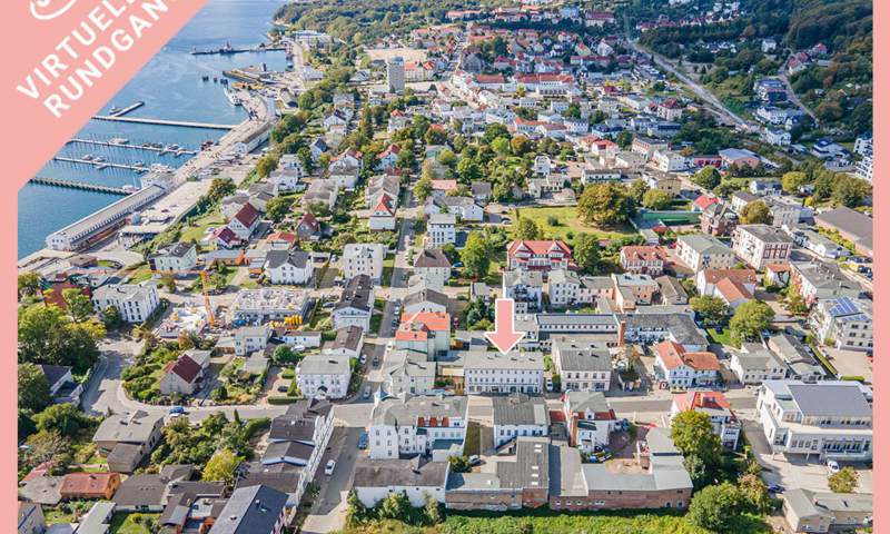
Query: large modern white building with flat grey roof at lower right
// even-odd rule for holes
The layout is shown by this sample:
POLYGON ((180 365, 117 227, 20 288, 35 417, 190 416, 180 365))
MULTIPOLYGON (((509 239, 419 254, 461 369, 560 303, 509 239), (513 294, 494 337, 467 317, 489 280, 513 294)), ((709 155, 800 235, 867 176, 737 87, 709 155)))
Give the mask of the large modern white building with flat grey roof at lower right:
POLYGON ((871 399, 871 388, 858 382, 767 380, 758 393, 758 419, 773 453, 869 461, 871 399))

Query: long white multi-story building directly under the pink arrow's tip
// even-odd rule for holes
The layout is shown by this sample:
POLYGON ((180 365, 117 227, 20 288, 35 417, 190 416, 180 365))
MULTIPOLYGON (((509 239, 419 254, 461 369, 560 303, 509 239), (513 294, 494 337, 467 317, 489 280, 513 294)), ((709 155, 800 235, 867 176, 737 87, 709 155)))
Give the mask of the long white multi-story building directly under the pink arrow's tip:
POLYGON ((463 358, 464 390, 468 394, 541 393, 544 388, 541 353, 468 350, 463 358))

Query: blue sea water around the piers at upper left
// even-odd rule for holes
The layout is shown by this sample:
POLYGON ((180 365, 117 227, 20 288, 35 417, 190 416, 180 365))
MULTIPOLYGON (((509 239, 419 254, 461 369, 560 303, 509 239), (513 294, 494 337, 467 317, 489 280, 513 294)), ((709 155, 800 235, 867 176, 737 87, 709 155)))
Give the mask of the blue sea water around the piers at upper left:
MULTIPOLYGON (((227 41, 233 47, 255 46, 265 40, 271 29, 271 17, 284 0, 209 0, 207 6, 158 52, 139 73, 123 87, 102 109, 112 106, 123 108, 141 100, 141 108, 129 117, 189 120, 214 123, 237 123, 246 112, 231 106, 215 77, 233 68, 266 63, 269 69, 283 70, 286 59, 283 52, 239 53, 233 56, 192 56, 199 50, 219 48, 227 41), (201 81, 209 76, 209 81, 201 81)), ((131 145, 147 141, 178 144, 197 149, 201 141, 218 139, 222 130, 179 128, 169 126, 134 125, 91 120, 76 137, 108 140, 126 138, 131 145)), ((59 156, 82 158, 83 155, 102 156, 107 161, 147 165, 160 162, 178 167, 188 156, 159 157, 157 152, 95 145, 68 144, 59 156)), ((110 186, 137 185, 139 175, 106 168, 96 170, 91 166, 49 161, 38 176, 68 180, 88 181, 110 186)), ((52 231, 100 209, 120 197, 73 189, 28 184, 19 190, 19 257, 27 256, 44 246, 52 231)))

